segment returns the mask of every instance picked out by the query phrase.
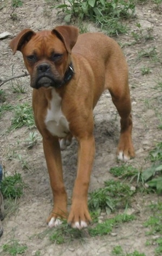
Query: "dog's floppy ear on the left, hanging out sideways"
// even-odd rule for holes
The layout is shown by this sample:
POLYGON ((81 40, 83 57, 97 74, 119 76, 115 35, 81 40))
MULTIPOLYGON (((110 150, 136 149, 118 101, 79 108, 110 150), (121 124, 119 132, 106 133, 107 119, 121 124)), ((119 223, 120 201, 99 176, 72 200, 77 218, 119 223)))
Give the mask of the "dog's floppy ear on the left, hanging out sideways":
POLYGON ((22 45, 25 42, 28 42, 30 38, 35 35, 36 33, 32 31, 31 29, 23 29, 12 41, 10 42, 10 47, 13 51, 13 54, 15 52, 21 51, 22 45))

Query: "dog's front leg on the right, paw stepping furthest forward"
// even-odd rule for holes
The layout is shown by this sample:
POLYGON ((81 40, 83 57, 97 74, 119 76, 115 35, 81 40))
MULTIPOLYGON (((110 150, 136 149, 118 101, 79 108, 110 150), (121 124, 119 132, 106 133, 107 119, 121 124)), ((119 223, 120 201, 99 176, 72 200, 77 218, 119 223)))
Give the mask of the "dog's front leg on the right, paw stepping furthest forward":
POLYGON ((91 221, 87 207, 87 192, 93 159, 95 156, 95 139, 93 136, 78 139, 78 170, 73 188, 72 206, 68 223, 74 228, 83 228, 91 221))

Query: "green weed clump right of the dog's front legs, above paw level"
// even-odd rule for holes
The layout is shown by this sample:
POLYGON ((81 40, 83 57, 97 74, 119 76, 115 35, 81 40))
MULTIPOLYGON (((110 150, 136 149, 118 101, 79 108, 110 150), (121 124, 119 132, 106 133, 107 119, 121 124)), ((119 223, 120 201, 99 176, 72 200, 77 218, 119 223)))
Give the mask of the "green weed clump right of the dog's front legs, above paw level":
POLYGON ((89 208, 91 211, 107 210, 107 208, 113 211, 114 208, 125 208, 127 204, 130 204, 133 193, 128 185, 120 181, 106 181, 104 188, 90 193, 89 208))

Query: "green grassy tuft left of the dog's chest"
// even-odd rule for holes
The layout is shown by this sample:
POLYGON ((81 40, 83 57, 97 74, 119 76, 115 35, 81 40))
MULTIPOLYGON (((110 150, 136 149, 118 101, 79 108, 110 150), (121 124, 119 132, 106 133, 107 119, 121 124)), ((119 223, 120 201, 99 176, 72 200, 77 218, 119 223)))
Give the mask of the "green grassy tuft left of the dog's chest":
POLYGON ((14 109, 14 117, 11 120, 11 128, 17 129, 22 126, 33 127, 35 121, 33 118, 33 112, 31 106, 28 103, 19 104, 14 109))

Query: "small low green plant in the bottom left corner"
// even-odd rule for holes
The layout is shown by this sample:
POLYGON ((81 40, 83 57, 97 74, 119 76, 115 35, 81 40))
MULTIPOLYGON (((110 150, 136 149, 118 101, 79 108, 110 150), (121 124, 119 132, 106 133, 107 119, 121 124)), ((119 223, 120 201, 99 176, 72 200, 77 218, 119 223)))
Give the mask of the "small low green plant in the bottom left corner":
POLYGON ((23 254, 27 251, 26 245, 21 245, 18 240, 12 240, 8 244, 2 245, 3 252, 8 253, 11 256, 23 254))

